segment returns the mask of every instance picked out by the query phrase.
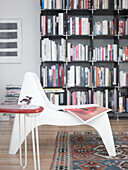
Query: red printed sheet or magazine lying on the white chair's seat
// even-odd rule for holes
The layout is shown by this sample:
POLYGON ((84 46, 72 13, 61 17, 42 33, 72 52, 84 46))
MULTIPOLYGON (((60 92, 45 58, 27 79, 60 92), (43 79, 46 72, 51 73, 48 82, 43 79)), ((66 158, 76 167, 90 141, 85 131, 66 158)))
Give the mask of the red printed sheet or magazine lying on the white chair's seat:
POLYGON ((69 108, 69 109, 66 108, 62 111, 73 113, 75 114, 75 116, 78 116, 83 121, 86 121, 103 112, 111 111, 111 109, 101 107, 101 106, 93 106, 93 107, 85 107, 85 108, 69 108))

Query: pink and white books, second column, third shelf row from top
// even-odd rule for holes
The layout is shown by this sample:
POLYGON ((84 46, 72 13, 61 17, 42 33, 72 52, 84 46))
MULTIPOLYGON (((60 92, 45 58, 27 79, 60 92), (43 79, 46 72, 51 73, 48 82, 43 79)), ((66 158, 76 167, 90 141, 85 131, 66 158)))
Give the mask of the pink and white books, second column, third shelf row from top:
POLYGON ((67 43, 67 61, 89 60, 91 60, 91 47, 89 45, 67 43))

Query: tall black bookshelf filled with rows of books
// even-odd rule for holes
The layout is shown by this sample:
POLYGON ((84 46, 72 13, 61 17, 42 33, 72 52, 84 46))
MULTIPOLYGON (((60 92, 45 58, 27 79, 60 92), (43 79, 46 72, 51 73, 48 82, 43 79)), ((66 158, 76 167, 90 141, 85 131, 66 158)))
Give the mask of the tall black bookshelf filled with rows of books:
POLYGON ((41 1, 41 83, 63 89, 61 104, 96 103, 128 115, 127 3, 41 1))

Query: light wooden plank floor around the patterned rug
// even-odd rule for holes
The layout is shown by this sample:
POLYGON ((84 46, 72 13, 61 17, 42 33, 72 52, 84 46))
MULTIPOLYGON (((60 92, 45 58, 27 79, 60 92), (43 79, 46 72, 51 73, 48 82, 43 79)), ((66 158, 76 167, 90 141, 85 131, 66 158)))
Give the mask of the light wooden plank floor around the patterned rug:
MULTIPOLYGON (((128 119, 120 121, 110 120, 113 131, 127 131, 128 119)), ((19 165, 19 153, 9 155, 9 142, 11 137, 13 122, 0 122, 0 170, 21 170, 19 165)), ((75 127, 55 127, 55 126, 40 126, 40 155, 41 155, 41 170, 49 170, 54 153, 55 140, 58 131, 95 131, 89 126, 75 127)), ((33 170, 32 157, 32 142, 31 134, 28 136, 28 166, 26 170, 33 170)))

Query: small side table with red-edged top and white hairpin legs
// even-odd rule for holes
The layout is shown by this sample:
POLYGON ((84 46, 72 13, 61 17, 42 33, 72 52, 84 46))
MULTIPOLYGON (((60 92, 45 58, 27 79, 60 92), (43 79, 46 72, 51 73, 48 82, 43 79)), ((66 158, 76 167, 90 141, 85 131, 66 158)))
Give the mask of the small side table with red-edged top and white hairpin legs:
MULTIPOLYGON (((20 115, 24 114, 24 135, 26 134, 26 116, 35 118, 44 110, 41 106, 34 105, 0 105, 0 112, 2 113, 14 113, 19 114, 19 143, 21 143, 21 121, 20 115)), ((39 155, 39 138, 38 138, 38 127, 36 126, 36 147, 37 147, 37 161, 38 170, 40 170, 40 155, 39 155)), ((32 129, 32 143, 33 143, 33 159, 34 159, 34 169, 37 170, 36 166, 36 151, 35 151, 35 135, 34 129, 32 129)), ((20 146, 20 165, 24 169, 27 166, 27 137, 25 138, 25 165, 22 164, 22 147, 20 146)))

